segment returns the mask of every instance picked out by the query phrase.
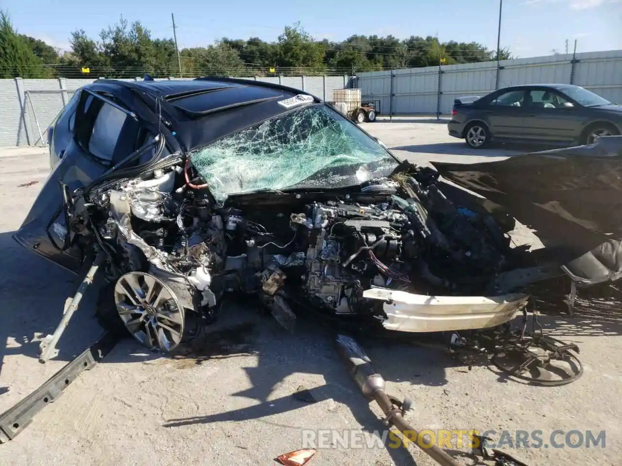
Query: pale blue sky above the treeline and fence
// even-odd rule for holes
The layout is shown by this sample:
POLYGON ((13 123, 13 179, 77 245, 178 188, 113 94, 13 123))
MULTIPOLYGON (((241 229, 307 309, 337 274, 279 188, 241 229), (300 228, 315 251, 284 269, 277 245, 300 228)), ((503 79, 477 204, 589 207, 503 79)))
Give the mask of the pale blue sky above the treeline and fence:
MULTIPOLYGON (((175 13, 179 47, 215 39, 276 40, 284 25, 300 21, 316 39, 353 34, 436 35, 496 48, 499 0, 1 0, 21 34, 68 49, 68 37, 84 29, 98 37, 123 15, 140 20, 154 37, 172 37, 175 13)), ((519 57, 622 49, 622 0, 504 0, 501 47, 519 57)))

